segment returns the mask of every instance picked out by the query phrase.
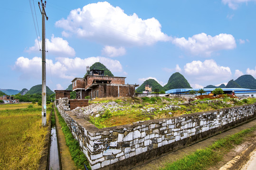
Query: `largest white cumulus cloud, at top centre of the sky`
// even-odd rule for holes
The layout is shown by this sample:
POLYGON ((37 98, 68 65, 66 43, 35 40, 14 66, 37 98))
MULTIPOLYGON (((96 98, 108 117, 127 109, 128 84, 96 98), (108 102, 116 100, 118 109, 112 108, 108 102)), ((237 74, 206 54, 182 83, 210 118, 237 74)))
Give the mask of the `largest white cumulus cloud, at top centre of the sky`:
POLYGON ((144 20, 135 13, 127 15, 122 8, 108 2, 71 10, 66 19, 58 20, 55 25, 64 29, 64 36, 75 34, 111 46, 150 45, 170 40, 161 32, 161 24, 154 17, 144 20))

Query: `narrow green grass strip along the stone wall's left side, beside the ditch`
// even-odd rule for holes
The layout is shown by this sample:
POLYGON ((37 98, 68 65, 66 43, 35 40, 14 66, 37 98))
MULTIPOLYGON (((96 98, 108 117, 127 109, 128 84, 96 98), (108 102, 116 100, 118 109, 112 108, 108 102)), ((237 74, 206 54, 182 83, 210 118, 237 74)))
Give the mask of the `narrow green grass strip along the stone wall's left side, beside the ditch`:
POLYGON ((59 114, 57 108, 57 117, 59 119, 59 123, 61 125, 61 129, 64 133, 66 145, 69 149, 72 159, 74 160, 77 169, 85 170, 85 166, 88 170, 91 170, 89 162, 86 160, 85 154, 80 150, 79 143, 74 139, 71 131, 69 130, 68 126, 66 125, 65 120, 59 114))

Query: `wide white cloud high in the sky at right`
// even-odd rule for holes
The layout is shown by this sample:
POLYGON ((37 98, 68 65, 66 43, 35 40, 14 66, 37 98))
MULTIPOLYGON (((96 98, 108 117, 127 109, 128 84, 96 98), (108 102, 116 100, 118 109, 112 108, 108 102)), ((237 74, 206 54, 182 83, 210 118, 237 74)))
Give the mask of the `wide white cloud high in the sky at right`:
POLYGON ((181 49, 189 51, 193 55, 210 56, 212 52, 219 50, 231 50, 236 48, 236 41, 231 34, 218 34, 214 37, 205 33, 195 34, 188 39, 174 38, 172 43, 181 49))

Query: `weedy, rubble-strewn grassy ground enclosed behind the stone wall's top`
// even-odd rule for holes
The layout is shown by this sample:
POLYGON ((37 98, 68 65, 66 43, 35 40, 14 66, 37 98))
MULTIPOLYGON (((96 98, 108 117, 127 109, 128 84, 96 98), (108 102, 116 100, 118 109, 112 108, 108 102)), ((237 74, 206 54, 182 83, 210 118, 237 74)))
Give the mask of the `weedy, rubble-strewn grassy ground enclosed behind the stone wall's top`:
POLYGON ((100 116, 90 121, 98 128, 130 124, 140 120, 160 119, 194 112, 222 109, 232 106, 255 103, 256 98, 238 100, 224 96, 218 100, 194 100, 188 102, 182 98, 142 97, 142 98, 99 98, 90 103, 117 102, 118 108, 105 109, 100 116), (211 102, 208 102, 211 101, 211 102), (168 106, 174 106, 166 109, 168 106))

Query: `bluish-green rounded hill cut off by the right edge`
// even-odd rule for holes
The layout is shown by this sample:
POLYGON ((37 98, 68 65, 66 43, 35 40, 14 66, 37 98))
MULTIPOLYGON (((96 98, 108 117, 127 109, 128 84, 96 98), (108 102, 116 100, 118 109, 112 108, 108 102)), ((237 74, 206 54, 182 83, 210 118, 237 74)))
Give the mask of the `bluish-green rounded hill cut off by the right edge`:
POLYGON ((239 76, 235 82, 242 88, 256 89, 256 79, 251 75, 239 76))

